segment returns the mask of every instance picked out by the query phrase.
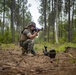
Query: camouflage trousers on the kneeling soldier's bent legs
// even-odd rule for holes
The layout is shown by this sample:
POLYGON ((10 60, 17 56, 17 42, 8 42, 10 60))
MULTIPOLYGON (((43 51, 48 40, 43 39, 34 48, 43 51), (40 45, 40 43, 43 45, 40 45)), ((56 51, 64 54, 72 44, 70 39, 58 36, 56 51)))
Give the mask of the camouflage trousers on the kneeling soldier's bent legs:
POLYGON ((24 55, 25 52, 26 52, 26 54, 28 52, 31 52, 33 55, 35 55, 35 51, 34 51, 34 48, 33 48, 33 46, 34 46, 33 40, 28 39, 26 41, 21 41, 20 45, 22 47, 22 55, 24 55))

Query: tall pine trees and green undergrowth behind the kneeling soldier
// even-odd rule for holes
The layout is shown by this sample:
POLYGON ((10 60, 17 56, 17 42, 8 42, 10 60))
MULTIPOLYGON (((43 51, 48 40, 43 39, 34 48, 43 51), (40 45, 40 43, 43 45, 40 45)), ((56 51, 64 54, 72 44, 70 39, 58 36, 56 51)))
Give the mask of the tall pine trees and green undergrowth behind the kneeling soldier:
MULTIPOLYGON (((35 42, 76 43, 76 0, 39 0, 43 31, 35 42)), ((0 43, 18 43, 22 29, 32 21, 28 0, 0 0, 0 43)))

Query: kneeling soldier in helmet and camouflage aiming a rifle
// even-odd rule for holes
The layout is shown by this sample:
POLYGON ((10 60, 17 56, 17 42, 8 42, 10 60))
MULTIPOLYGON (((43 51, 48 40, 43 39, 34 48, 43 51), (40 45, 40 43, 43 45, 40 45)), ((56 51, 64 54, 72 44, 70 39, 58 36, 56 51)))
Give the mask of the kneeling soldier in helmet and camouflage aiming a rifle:
POLYGON ((35 55, 34 51, 34 38, 38 35, 38 30, 35 32, 32 32, 34 28, 36 27, 36 24, 34 22, 30 22, 27 27, 21 32, 20 36, 20 46, 22 47, 22 55, 28 53, 30 51, 33 55, 35 55))

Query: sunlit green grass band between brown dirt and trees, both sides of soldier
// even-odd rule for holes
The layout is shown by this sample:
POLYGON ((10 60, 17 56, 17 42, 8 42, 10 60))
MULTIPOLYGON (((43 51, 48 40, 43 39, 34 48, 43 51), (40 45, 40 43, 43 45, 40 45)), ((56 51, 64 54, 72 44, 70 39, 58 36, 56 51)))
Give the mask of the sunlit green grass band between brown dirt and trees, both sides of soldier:
MULTIPOLYGON (((2 48, 15 48, 17 45, 15 44, 2 44, 2 48)), ((65 47, 76 47, 75 43, 64 43, 64 44, 51 44, 48 42, 41 42, 34 45, 35 50, 43 50, 44 46, 47 46, 48 50, 55 49, 57 52, 64 51, 65 47)))

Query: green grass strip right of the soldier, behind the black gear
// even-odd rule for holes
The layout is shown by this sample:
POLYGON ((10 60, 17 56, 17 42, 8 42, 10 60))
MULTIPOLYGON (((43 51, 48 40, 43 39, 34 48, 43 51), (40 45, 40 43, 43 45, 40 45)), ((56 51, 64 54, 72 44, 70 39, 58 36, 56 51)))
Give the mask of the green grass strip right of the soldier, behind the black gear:
POLYGON ((36 50, 42 50, 44 49, 44 46, 47 46, 47 49, 55 49, 57 52, 64 51, 65 47, 70 46, 70 47, 76 47, 75 43, 64 43, 64 44, 51 44, 47 42, 42 42, 39 44, 35 44, 35 49, 36 50))

